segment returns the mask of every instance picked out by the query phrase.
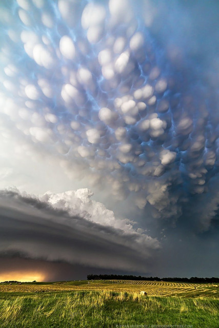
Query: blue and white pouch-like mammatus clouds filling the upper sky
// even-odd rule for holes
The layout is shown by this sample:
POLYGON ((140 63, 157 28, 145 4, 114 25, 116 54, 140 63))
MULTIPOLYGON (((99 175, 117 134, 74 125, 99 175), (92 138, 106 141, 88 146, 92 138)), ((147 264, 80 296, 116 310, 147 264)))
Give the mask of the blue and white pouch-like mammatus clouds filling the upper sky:
POLYGON ((193 19, 194 5, 173 3, 169 14, 169 2, 1 2, 5 180, 24 174, 30 158, 41 157, 40 175, 50 158, 70 179, 86 177, 154 218, 175 222, 195 199, 208 212, 196 215, 198 229, 209 229, 209 191, 218 206, 218 57, 203 18, 213 11, 193 19), (200 38, 203 24, 209 35, 200 38))

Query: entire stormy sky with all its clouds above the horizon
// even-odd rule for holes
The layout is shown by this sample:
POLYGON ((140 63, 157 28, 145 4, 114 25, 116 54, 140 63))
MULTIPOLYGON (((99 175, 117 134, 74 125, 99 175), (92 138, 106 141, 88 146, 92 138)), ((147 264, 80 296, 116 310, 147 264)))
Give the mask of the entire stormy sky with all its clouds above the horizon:
POLYGON ((0 281, 218 276, 218 15, 0 2, 0 281))

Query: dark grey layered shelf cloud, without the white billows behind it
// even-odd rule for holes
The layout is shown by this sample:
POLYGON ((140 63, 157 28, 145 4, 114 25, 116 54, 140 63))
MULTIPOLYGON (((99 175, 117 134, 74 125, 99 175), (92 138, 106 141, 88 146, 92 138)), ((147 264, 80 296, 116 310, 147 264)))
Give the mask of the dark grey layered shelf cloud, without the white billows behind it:
POLYGON ((1 255, 8 257, 20 255, 115 270, 138 266, 147 271, 147 259, 150 262, 159 248, 158 241, 146 235, 70 216, 15 191, 1 192, 0 208, 1 255))

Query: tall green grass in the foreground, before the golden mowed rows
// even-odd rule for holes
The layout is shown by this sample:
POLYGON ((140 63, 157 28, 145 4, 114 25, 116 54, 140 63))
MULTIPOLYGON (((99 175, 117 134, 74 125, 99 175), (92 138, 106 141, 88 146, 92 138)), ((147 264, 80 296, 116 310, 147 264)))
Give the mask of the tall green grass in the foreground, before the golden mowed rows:
POLYGON ((218 328, 219 300, 144 297, 126 292, 2 293, 1 328, 178 324, 218 328))

